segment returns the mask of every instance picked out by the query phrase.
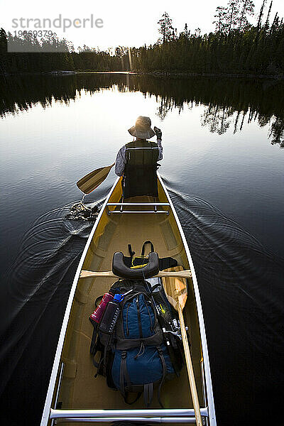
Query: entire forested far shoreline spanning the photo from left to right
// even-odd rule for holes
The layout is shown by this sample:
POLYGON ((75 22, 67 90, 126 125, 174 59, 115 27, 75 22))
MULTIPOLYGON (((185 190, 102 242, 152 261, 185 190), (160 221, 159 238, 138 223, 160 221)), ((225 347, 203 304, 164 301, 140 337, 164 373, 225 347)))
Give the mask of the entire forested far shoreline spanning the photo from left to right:
POLYGON ((263 0, 257 25, 252 26, 252 0, 229 0, 226 7, 217 7, 215 32, 204 35, 200 28, 191 33, 187 24, 178 33, 165 12, 158 21, 160 38, 155 44, 140 48, 98 50, 84 45, 75 51, 71 43, 54 35, 40 42, 32 32, 18 37, 1 28, 0 73, 70 70, 284 77, 284 23, 278 13, 271 18, 271 6, 272 1, 266 8, 263 0), (8 43, 10 48, 16 46, 20 51, 7 52, 8 43))

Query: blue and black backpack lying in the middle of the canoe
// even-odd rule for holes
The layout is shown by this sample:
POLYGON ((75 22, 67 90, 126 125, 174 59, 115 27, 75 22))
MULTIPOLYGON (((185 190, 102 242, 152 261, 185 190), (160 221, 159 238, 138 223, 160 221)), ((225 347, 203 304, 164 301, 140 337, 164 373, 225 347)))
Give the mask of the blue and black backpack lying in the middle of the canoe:
POLYGON ((94 334, 90 351, 93 358, 98 351, 101 353, 99 361, 94 361, 97 374, 106 376, 108 386, 118 389, 126 403, 129 403, 129 393, 137 393, 134 401, 143 393, 148 407, 154 388, 158 387, 158 401, 163 407, 161 386, 165 380, 179 376, 182 368, 178 333, 167 334, 165 329, 176 320, 175 312, 161 284, 159 289, 154 292, 144 280, 117 281, 109 293, 127 294, 120 302, 121 311, 113 334, 104 334, 91 320, 94 334), (167 346, 165 334, 168 336, 167 346))

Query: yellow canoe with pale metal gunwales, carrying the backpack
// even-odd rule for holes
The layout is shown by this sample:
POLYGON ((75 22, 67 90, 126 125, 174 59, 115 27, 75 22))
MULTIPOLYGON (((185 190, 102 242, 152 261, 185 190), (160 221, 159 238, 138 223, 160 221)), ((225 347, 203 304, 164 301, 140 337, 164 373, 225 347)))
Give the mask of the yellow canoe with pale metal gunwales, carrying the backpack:
MULTIPOLYGON (((173 257, 178 265, 191 271, 187 278, 188 296, 185 323, 189 327, 192 363, 195 371, 200 412, 206 425, 216 425, 212 379, 200 293, 195 268, 182 226, 160 175, 158 199, 135 197, 121 203, 121 178, 111 188, 82 253, 67 302, 62 329, 55 353, 41 426, 56 422, 171 422, 194 423, 190 386, 186 368, 179 378, 163 384, 161 409, 154 398, 151 409, 143 398, 129 406, 121 394, 107 387, 104 377, 94 378, 95 368, 89 355, 92 324, 89 315, 94 301, 114 283, 110 276, 80 278, 82 271, 111 271, 114 252, 128 256, 128 244, 140 254, 144 241, 153 242, 160 258, 173 257)), ((99 275, 99 274, 98 274, 99 275)))

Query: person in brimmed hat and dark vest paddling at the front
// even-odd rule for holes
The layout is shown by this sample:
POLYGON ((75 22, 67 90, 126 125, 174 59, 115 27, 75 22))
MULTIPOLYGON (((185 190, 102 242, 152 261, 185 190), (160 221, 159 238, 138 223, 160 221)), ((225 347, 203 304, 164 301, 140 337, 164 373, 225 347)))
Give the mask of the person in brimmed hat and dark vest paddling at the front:
POLYGON ((136 140, 122 146, 116 155, 115 173, 124 176, 124 198, 138 195, 158 197, 157 161, 163 158, 162 132, 151 129, 151 119, 138 116, 135 126, 129 129, 136 140), (157 142, 147 139, 157 136, 157 142))

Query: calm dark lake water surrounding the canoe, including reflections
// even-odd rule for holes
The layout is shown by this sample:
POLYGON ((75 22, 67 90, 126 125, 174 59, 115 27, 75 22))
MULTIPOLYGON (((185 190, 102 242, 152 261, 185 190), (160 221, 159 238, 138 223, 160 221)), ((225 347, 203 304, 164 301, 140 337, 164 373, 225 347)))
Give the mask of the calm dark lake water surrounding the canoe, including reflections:
MULTIPOLYGON (((38 425, 92 224, 75 182, 113 163, 138 115, 197 269, 219 425, 283 425, 284 84, 80 74, 0 86, 2 424, 38 425)), ((114 182, 85 198, 96 204, 114 182)))

